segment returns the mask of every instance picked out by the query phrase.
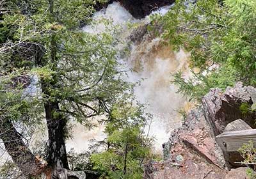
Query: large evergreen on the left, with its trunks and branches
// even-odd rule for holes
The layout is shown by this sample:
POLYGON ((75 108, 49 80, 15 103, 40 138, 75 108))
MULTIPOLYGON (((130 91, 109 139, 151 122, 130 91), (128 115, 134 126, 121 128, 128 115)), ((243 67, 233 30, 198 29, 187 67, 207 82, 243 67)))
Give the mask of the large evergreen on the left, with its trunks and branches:
POLYGON ((0 137, 22 173, 38 175, 44 166, 14 125, 37 125, 42 120, 40 110, 44 111, 49 134, 47 168, 52 177, 67 177, 72 175, 65 149, 67 121, 74 118, 93 127, 91 118, 110 113, 121 94, 131 88, 118 71, 111 36, 90 35, 80 28, 90 22, 93 5, 104 1, 2 2, 7 12, 1 16, 0 28, 12 38, 1 36, 0 137), (33 75, 39 78, 41 93, 23 97, 33 75))

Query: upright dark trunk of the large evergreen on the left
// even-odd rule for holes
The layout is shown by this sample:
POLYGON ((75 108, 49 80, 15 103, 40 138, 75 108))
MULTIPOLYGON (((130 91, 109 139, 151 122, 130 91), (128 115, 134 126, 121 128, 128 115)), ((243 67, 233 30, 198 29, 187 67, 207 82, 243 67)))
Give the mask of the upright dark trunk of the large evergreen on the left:
MULTIPOLYGON (((54 22, 54 1, 49 1, 49 13, 51 13, 52 23, 54 22)), ((51 59, 45 61, 44 65, 51 65, 53 71, 56 71, 58 59, 57 59, 57 42, 56 35, 51 35, 51 59)), ((60 113, 60 106, 58 97, 52 95, 51 89, 58 88, 58 74, 52 77, 52 81, 44 81, 42 79, 42 93, 49 97, 44 104, 45 118, 47 121, 49 146, 48 146, 48 162, 54 170, 57 168, 68 169, 67 152, 65 146, 65 127, 67 124, 67 118, 60 113)))

